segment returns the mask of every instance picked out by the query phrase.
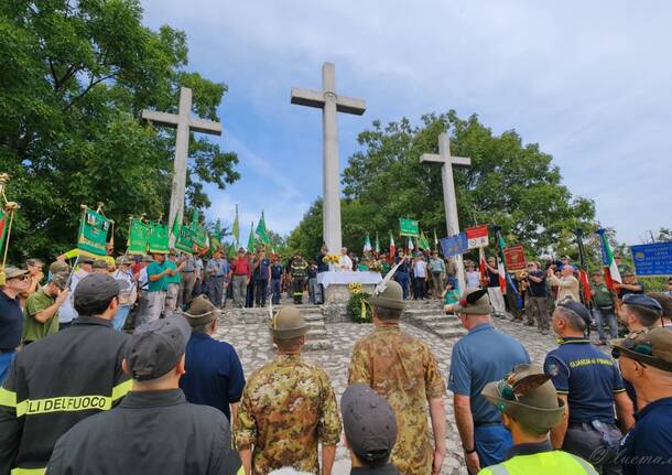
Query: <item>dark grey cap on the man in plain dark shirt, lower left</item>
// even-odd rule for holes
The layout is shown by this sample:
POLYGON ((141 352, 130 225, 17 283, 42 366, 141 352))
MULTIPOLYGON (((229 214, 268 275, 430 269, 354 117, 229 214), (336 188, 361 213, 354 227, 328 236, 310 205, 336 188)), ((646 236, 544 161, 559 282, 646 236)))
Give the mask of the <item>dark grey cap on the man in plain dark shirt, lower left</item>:
POLYGON ((173 315, 140 325, 126 344, 126 363, 138 381, 156 379, 177 365, 192 328, 186 319, 173 315))

